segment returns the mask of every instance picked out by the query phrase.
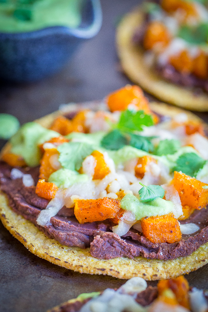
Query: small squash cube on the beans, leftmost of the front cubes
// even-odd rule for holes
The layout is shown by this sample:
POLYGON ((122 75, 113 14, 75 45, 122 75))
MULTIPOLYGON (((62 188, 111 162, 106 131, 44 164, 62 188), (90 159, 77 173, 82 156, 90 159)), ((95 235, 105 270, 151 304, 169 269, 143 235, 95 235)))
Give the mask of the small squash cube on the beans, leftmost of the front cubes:
POLYGON ((58 187, 54 183, 45 182, 45 180, 38 180, 36 185, 36 194, 39 197, 43 197, 47 200, 51 200, 55 197, 58 187))

